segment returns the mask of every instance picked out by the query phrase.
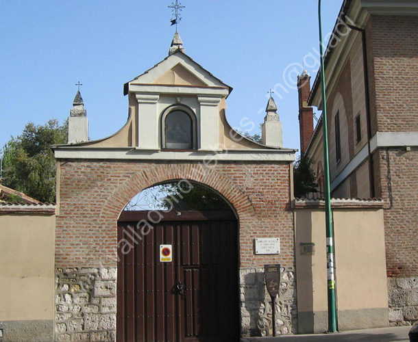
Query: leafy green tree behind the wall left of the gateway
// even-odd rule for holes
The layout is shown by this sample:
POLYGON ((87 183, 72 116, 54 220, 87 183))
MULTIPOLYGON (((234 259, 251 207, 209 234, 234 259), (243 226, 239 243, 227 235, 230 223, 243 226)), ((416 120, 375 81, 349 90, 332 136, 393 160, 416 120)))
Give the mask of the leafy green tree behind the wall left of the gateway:
POLYGON ((55 202, 56 161, 51 145, 66 144, 67 137, 67 122, 26 124, 22 134, 3 147, 3 184, 40 202, 55 202))

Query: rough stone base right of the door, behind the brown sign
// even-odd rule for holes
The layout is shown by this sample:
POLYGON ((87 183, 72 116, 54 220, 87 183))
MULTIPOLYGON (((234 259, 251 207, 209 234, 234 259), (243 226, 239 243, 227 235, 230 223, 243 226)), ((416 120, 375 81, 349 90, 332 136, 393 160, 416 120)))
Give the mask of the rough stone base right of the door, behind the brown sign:
MULTIPOLYGON (((280 267, 280 295, 275 300, 278 335, 297 333, 297 300, 294 267, 280 267)), ((262 268, 240 270, 241 334, 273 336, 273 309, 262 268)))

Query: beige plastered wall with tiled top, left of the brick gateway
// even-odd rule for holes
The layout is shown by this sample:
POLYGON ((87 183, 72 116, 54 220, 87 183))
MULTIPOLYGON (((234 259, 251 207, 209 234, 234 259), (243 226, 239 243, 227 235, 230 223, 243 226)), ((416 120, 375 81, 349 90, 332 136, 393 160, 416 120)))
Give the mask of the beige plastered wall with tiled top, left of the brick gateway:
POLYGON ((3 341, 51 341, 55 206, 0 205, 3 341))

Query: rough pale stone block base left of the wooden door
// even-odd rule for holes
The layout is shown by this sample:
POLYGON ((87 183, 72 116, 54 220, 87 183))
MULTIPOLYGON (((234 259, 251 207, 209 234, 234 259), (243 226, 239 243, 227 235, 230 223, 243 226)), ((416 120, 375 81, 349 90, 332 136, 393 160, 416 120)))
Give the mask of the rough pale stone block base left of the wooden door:
POLYGON ((116 268, 56 269, 55 341, 116 341, 116 268))

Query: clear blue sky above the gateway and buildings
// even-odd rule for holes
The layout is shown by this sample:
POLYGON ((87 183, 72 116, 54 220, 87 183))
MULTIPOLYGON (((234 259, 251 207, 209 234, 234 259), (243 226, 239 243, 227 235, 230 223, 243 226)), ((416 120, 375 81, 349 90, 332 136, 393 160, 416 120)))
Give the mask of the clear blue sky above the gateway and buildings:
MULTIPOLYGON (((319 68, 317 1, 181 0, 186 54, 232 86, 227 118, 258 133, 269 90, 284 147, 299 149, 297 89, 302 64, 319 68), (281 86, 280 86, 281 85, 281 86), (252 122, 252 124, 249 124, 252 122)), ((80 91, 91 140, 127 120, 123 84, 168 55, 172 0, 0 0, 0 146, 25 124, 69 116, 80 91)), ((323 0, 323 32, 342 0, 323 0)))

